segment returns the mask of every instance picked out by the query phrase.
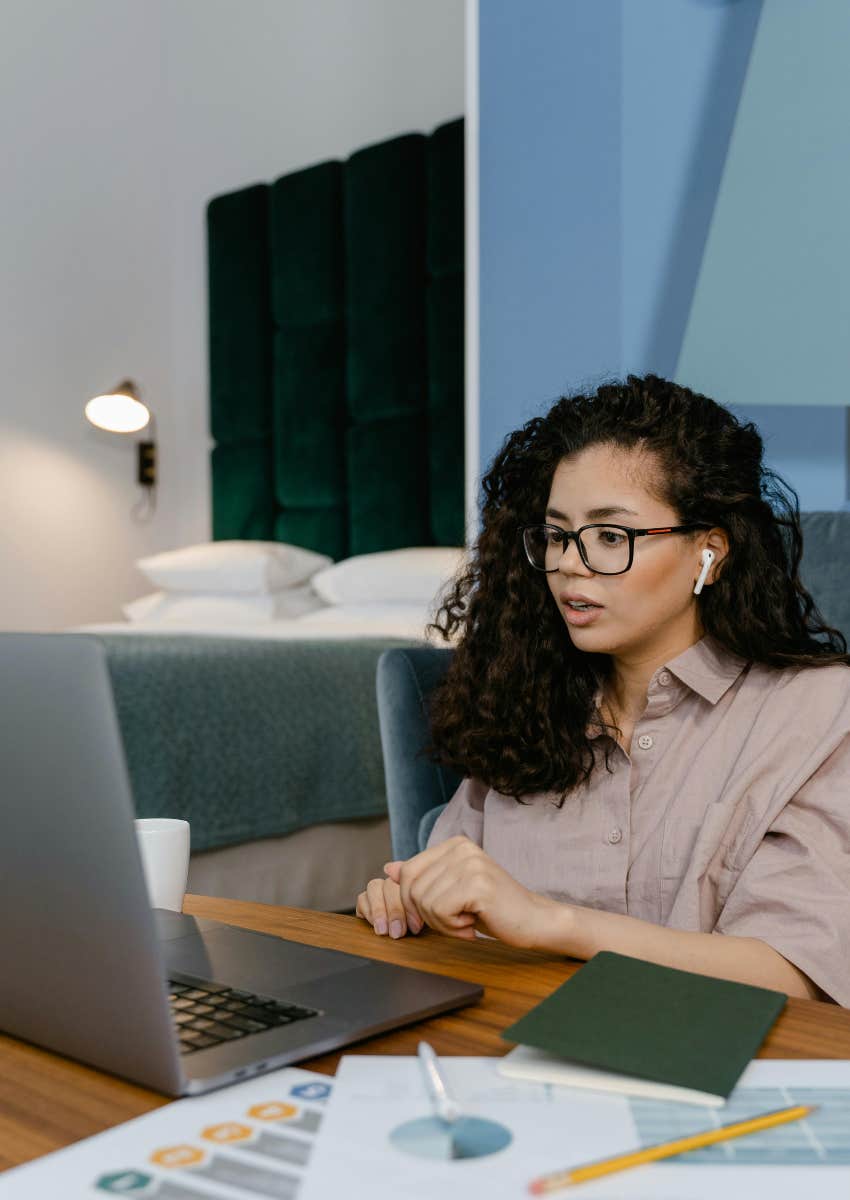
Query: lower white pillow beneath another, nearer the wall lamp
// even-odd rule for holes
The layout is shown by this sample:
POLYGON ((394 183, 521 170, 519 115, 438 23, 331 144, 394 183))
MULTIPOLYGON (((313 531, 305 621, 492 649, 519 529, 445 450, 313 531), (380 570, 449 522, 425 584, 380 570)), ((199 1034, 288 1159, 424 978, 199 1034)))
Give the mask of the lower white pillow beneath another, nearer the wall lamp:
POLYGON ((124 605, 124 616, 145 625, 246 625, 292 620, 324 607, 310 584, 304 583, 267 595, 154 592, 124 605))

